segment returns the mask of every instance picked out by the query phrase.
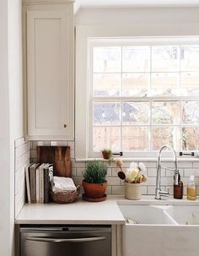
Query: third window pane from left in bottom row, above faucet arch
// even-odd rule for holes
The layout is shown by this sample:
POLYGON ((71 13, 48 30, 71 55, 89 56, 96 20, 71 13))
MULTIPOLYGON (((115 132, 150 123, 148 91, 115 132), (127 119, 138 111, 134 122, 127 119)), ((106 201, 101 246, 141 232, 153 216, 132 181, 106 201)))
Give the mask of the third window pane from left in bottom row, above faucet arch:
POLYGON ((159 150, 164 144, 177 147, 177 130, 174 127, 152 128, 152 150, 159 150))

